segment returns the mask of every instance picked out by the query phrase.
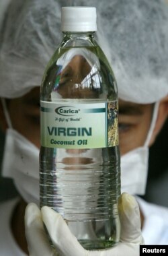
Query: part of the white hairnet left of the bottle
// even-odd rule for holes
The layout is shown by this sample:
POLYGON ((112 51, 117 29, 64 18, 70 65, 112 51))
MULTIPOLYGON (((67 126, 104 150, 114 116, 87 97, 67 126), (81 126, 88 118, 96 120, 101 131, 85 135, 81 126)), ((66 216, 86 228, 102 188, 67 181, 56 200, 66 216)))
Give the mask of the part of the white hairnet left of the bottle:
POLYGON ((62 36, 60 2, 11 0, 0 37, 0 96, 16 98, 40 86, 62 36))

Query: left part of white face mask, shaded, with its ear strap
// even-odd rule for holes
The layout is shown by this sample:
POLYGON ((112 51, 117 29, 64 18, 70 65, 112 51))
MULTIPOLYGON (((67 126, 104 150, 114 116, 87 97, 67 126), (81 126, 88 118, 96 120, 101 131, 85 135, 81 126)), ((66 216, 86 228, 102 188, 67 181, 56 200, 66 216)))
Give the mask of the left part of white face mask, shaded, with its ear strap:
POLYGON ((12 128, 5 100, 1 99, 1 102, 9 127, 5 136, 2 175, 13 179, 26 202, 39 205, 39 149, 12 128))

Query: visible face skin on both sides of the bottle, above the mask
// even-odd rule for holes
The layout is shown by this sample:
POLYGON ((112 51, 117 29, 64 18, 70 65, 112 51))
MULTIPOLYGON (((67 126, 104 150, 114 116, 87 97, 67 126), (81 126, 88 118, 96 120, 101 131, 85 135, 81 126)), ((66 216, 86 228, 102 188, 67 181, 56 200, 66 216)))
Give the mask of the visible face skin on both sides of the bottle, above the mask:
MULTIPOLYGON (((21 98, 9 100, 8 109, 13 129, 40 148, 40 88, 21 98)), ((144 145, 151 125, 152 104, 135 104, 119 100, 120 152, 144 145)))

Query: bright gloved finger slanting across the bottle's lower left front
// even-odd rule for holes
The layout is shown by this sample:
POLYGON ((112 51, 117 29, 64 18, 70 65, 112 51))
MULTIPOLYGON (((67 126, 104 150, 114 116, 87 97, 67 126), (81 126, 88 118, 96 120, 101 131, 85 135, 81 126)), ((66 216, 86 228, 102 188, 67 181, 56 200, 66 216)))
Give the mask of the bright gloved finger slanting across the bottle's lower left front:
POLYGON ((46 225, 54 247, 56 247, 60 255, 85 255, 85 249, 79 244, 77 238, 73 236, 60 214, 54 212, 50 207, 44 206, 42 207, 42 220, 46 225))

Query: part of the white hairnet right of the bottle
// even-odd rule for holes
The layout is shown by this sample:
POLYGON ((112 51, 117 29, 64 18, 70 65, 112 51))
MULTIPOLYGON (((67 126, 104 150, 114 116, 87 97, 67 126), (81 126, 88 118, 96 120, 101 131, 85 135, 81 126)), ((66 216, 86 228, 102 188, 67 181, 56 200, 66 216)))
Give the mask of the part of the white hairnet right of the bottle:
MULTIPOLYGON (((81 2, 83 1, 76 1, 81 2)), ((151 103, 168 94, 168 4, 165 0, 88 0, 100 17, 97 35, 108 39, 119 97, 151 103)), ((109 58, 108 58, 109 59, 109 58)))

